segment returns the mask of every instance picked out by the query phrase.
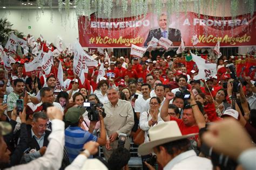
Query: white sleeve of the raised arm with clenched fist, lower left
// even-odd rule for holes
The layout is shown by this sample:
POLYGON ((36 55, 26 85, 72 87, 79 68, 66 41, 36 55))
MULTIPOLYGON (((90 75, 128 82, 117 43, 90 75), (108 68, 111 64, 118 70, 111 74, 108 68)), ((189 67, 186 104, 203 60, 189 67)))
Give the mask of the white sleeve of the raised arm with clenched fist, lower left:
POLYGON ((64 137, 64 122, 53 119, 52 132, 48 137, 49 144, 43 157, 32 160, 28 164, 12 166, 8 169, 59 169, 62 165, 64 137))

